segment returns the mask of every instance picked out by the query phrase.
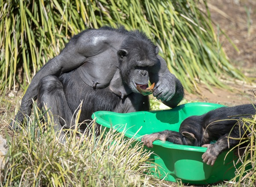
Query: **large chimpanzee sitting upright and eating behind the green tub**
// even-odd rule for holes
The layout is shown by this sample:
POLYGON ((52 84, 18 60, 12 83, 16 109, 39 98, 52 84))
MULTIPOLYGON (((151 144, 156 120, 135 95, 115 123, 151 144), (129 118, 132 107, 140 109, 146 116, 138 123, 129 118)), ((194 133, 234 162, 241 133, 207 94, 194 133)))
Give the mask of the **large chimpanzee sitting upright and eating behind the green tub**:
POLYGON ((85 30, 38 71, 22 98, 17 123, 10 125, 16 128, 31 114, 36 98, 40 108, 50 108, 57 130, 74 124, 81 100, 79 122, 95 111, 149 110, 148 96, 137 90, 145 89, 149 80, 156 83, 153 95, 165 105, 173 108, 183 99, 183 86, 145 34, 122 26, 85 30))

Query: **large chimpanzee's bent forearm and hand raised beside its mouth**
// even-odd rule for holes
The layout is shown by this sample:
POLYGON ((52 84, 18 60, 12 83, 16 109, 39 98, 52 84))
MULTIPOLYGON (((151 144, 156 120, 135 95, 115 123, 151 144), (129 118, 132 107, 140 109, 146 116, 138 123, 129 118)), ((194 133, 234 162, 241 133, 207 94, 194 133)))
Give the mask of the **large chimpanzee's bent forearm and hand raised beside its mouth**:
POLYGON ((174 108, 183 99, 184 89, 180 80, 167 68, 165 60, 159 55, 157 57, 159 62, 151 67, 149 75, 150 82, 156 83, 153 96, 160 99, 163 104, 174 108))

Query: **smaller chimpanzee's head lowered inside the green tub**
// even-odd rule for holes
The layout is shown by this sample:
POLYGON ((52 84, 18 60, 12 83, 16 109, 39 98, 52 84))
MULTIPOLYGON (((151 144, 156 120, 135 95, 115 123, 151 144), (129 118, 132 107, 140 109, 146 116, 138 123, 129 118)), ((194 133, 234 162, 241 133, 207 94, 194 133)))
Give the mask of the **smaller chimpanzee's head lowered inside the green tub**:
POLYGON ((180 124, 180 138, 184 145, 201 146, 202 131, 200 116, 190 116, 180 124))

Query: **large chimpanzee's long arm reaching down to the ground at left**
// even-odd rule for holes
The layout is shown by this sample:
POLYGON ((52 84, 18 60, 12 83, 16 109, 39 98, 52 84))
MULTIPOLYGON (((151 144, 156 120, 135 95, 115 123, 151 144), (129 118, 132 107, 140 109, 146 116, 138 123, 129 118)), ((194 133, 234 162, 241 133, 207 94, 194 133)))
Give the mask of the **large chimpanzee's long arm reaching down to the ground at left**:
MULTIPOLYGON (((32 99, 37 98, 38 84, 43 77, 47 77, 48 75, 59 77, 64 72, 79 67, 90 57, 97 59, 96 57, 99 54, 110 48, 110 46, 114 46, 114 42, 116 41, 113 41, 113 38, 108 36, 108 33, 104 34, 98 32, 101 31, 87 30, 74 36, 58 56, 50 59, 40 71, 35 74, 35 77, 33 77, 21 100, 20 109, 15 116, 15 121, 22 123, 24 116, 31 114, 32 99)), ((95 61, 91 59, 91 62, 95 61)), ((101 59, 95 63, 100 62, 102 62, 101 59)), ((12 125, 11 122, 10 126, 12 125)))

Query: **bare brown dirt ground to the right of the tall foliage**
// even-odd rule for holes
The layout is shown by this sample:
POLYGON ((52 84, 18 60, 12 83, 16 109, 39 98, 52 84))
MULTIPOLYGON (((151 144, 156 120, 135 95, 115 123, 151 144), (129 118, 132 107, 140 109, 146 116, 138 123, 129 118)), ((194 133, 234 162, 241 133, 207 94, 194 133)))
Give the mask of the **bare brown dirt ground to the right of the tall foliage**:
POLYGON ((208 6, 216 34, 219 26, 239 49, 236 51, 227 37, 220 34, 227 56, 252 84, 226 82, 230 91, 213 88, 214 93, 199 85, 201 96, 186 94, 185 98, 228 106, 250 103, 250 100, 256 103, 256 0, 208 0, 208 6))

